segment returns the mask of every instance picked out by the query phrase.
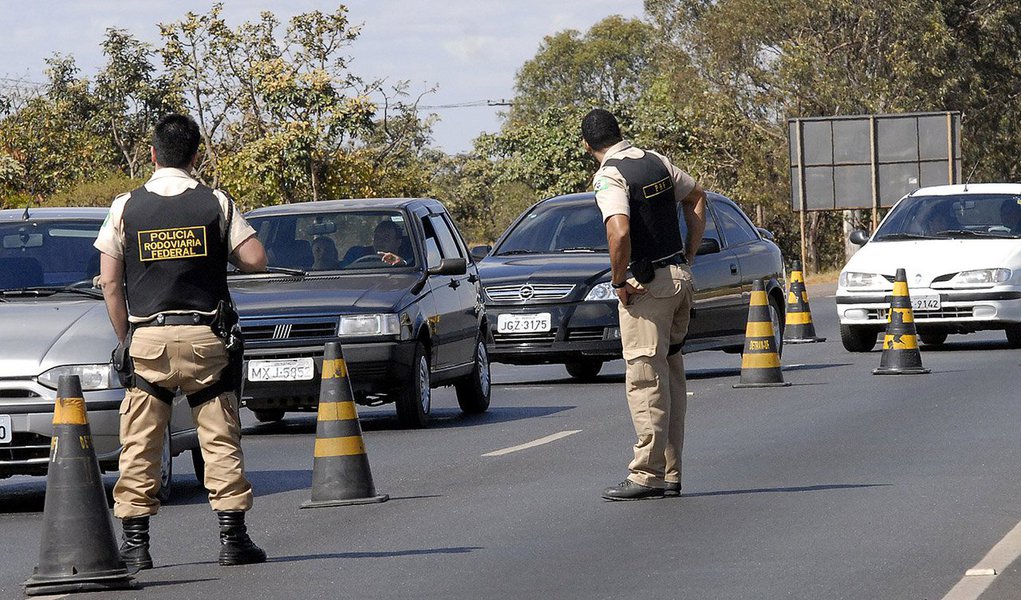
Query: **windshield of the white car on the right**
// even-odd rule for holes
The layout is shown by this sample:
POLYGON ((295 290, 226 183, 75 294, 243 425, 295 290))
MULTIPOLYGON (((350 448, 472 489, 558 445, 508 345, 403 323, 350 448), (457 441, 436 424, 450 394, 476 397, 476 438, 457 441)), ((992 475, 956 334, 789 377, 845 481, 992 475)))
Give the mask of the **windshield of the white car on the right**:
POLYGON ((1021 196, 960 194, 905 198, 883 220, 874 240, 1018 237, 1021 196))

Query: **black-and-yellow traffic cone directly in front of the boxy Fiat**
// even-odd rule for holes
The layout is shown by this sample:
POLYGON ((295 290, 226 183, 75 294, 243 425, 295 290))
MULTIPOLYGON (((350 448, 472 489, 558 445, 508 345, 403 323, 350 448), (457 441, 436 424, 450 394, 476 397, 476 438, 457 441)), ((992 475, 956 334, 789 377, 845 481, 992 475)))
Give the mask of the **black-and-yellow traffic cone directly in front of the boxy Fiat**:
POLYGON ((312 460, 312 499, 301 508, 371 504, 389 499, 389 496, 376 494, 351 382, 347 379, 347 364, 340 344, 330 342, 323 356, 323 386, 320 388, 312 460))

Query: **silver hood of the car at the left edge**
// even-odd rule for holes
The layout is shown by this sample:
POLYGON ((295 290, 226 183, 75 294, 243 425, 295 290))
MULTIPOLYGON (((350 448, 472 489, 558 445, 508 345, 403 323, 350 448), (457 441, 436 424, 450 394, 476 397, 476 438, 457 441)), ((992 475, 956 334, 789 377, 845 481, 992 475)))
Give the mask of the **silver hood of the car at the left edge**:
POLYGON ((99 300, 0 303, 0 377, 36 377, 62 364, 109 362, 117 338, 99 300))

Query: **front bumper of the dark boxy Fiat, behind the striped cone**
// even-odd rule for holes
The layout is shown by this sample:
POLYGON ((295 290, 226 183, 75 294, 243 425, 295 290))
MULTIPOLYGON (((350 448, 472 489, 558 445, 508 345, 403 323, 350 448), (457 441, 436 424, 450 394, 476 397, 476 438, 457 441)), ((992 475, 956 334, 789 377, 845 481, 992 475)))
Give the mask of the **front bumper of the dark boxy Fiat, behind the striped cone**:
MULTIPOLYGON (((378 396, 403 389, 411 379, 415 344, 415 340, 343 344, 344 362, 355 400, 371 404, 378 396)), ((245 348, 246 380, 250 359, 311 357, 315 368, 312 379, 303 382, 245 381, 244 404, 252 410, 314 410, 319 406, 322 386, 323 351, 323 346, 245 348)))

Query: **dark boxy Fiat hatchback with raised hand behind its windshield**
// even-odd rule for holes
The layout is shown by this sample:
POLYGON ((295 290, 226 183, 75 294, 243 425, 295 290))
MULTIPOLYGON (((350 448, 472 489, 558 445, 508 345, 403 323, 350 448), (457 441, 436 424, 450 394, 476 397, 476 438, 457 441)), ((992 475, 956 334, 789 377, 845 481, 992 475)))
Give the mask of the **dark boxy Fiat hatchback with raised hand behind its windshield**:
POLYGON ((478 267, 432 199, 303 202, 246 218, 270 272, 230 278, 245 338, 244 404, 262 421, 319 406, 324 346, 339 341, 355 402, 394 402, 424 427, 431 389, 489 407, 489 330, 478 267))

